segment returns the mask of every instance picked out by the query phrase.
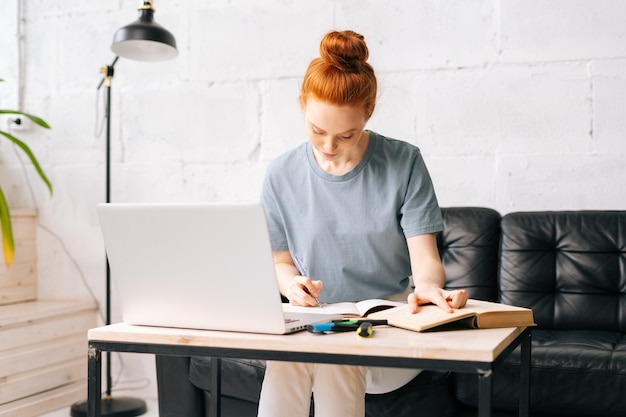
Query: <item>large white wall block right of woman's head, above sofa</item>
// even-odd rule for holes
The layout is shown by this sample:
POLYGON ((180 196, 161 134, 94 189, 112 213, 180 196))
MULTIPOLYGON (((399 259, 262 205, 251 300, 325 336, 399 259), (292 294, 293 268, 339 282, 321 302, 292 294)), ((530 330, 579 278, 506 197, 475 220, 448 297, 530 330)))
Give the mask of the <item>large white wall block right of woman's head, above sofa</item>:
POLYGON ((426 74, 416 86, 418 142, 439 155, 587 151, 584 65, 426 74))

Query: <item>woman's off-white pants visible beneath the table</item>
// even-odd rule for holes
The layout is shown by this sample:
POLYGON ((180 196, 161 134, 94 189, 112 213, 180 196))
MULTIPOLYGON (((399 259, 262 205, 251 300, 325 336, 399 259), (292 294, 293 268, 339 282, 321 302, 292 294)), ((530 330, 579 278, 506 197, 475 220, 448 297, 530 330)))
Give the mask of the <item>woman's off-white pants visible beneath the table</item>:
POLYGON ((365 416, 364 366, 267 361, 258 417, 365 416))

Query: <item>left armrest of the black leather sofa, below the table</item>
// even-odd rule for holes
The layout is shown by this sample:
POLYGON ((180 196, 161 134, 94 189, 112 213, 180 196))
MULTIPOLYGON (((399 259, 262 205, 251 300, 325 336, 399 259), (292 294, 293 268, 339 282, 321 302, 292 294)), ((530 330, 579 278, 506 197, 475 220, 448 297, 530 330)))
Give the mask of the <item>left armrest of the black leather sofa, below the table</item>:
POLYGON ((202 392, 189 381, 187 356, 156 355, 160 417, 200 417, 202 392))

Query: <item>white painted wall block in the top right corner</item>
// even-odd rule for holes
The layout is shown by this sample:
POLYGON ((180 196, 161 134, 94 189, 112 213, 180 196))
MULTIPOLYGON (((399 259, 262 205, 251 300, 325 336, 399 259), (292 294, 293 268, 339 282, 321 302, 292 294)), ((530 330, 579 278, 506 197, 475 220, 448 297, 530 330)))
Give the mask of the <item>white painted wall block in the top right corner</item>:
POLYGON ((621 0, 507 0, 499 4, 503 61, 626 54, 626 3, 621 0))

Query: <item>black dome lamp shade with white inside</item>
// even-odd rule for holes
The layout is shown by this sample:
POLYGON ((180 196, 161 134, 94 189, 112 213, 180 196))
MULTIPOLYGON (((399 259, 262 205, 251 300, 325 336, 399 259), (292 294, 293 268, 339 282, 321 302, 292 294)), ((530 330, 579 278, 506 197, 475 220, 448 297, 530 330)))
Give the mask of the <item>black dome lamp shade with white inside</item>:
POLYGON ((154 10, 139 10, 139 20, 118 29, 111 50, 136 61, 166 61, 176 58, 176 39, 154 21, 154 10))

